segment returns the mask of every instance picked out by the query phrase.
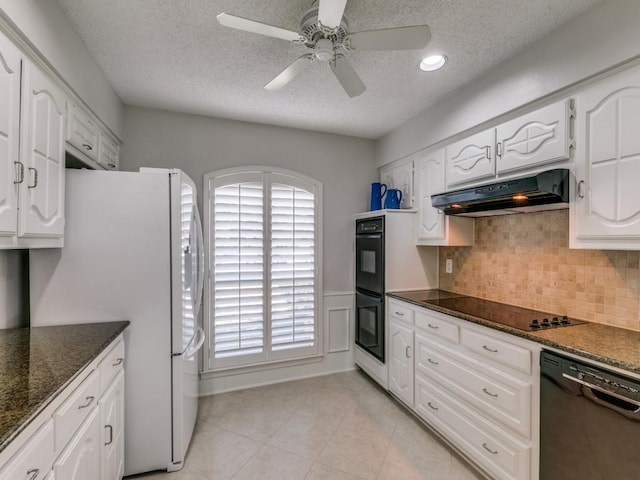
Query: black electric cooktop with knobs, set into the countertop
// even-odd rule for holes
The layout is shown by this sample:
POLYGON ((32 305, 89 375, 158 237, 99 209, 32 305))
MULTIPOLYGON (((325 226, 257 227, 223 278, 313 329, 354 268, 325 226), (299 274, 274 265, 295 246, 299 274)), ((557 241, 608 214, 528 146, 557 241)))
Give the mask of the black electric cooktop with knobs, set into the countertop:
POLYGON ((438 305, 528 332, 585 323, 582 320, 567 318, 566 315, 554 315, 474 297, 439 298, 424 300, 424 303, 438 305))

